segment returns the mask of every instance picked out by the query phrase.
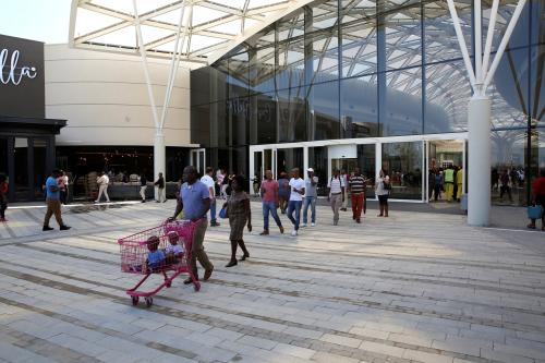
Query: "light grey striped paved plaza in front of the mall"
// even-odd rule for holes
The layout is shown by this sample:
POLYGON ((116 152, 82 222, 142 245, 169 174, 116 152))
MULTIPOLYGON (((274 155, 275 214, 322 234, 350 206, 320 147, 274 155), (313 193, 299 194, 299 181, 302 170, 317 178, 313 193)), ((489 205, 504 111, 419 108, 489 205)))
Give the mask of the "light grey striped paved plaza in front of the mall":
POLYGON ((206 234, 211 279, 194 292, 179 278, 150 308, 125 294, 140 277, 120 273, 117 239, 158 225, 172 201, 64 208, 62 233, 40 231, 43 208, 9 209, 0 361, 545 362, 545 233, 395 206, 337 227, 319 206, 292 238, 284 216, 287 234, 258 235, 253 203, 250 259, 223 267, 222 220, 206 234))

